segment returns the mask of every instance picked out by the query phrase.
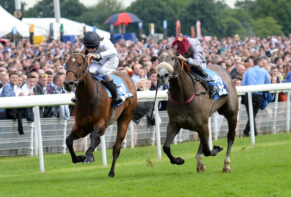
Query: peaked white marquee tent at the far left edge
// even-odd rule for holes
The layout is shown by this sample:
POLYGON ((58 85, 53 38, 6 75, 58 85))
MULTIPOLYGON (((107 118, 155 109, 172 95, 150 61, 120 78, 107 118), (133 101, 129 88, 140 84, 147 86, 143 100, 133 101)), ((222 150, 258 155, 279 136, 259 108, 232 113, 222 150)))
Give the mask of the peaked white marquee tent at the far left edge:
MULTIPOLYGON (((29 37, 29 25, 25 22, 19 20, 18 18, 11 15, 7 12, 4 8, 0 6, 0 38, 3 37, 12 37, 12 28, 13 26, 16 27, 18 32, 17 36, 21 37, 29 37)), ((34 35, 45 35, 45 30, 42 28, 34 28, 34 35)))

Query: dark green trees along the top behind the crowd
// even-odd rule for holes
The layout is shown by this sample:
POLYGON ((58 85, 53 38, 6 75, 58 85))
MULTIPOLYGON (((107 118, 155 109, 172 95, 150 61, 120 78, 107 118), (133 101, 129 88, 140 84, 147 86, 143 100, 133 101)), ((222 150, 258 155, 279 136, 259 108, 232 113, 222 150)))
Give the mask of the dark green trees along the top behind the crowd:
MULTIPOLYGON (((13 14, 14 1, 0 0, 0 5, 13 14)), ((163 20, 168 21, 168 35, 176 34, 176 21, 181 22, 181 32, 190 34, 190 27, 196 28, 201 22, 202 35, 218 38, 239 34, 243 36, 288 35, 291 32, 291 0, 242 0, 235 8, 216 0, 136 0, 128 8, 122 7, 120 0, 100 0, 95 6, 86 8, 79 0, 60 0, 61 17, 96 25, 109 31, 104 25, 106 19, 119 12, 132 12, 143 22, 143 30, 148 34, 149 24, 155 24, 155 32, 163 33, 163 20)), ((25 10, 23 17, 54 17, 52 0, 40 0, 32 8, 25 10)), ((115 28, 118 32, 119 28, 115 28)), ((126 26, 127 32, 138 32, 137 24, 126 26)))

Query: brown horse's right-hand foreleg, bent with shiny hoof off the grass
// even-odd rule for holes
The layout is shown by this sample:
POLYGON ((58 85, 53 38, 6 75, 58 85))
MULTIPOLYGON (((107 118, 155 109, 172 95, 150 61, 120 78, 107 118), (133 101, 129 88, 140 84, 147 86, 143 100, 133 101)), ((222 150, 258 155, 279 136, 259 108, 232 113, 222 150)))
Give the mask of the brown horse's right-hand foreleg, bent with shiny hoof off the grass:
POLYGON ((90 134, 90 146, 86 151, 86 159, 83 161, 83 163, 94 163, 94 156, 93 156, 93 152, 95 150, 95 148, 99 145, 100 143, 100 136, 104 135, 105 131, 104 130, 99 130, 99 129, 95 129, 94 131, 92 131, 92 133, 90 134))

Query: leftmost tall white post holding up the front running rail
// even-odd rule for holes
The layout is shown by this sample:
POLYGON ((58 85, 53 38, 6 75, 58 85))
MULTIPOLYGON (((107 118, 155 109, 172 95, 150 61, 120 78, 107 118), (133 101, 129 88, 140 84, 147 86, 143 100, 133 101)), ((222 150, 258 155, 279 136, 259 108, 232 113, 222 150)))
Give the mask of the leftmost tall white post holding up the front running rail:
POLYGON ((40 167, 40 173, 43 174, 43 173, 45 173, 45 166, 43 163, 42 130, 40 127, 40 116, 39 116, 39 107, 38 106, 35 106, 35 116, 36 116, 36 119, 34 121, 36 122, 36 127, 37 127, 39 167, 40 167))

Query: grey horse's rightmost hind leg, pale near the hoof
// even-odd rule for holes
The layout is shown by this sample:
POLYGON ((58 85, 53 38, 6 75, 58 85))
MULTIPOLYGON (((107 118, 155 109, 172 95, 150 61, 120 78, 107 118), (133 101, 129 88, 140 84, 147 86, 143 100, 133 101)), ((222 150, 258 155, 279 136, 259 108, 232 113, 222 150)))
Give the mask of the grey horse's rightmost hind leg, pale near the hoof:
POLYGON ((237 116, 233 116, 234 118, 228 119, 228 133, 227 133, 227 151, 226 151, 226 157, 224 159, 224 166, 222 168, 222 172, 231 172, 231 169, 229 167, 230 163, 230 149, 234 142, 234 137, 236 135, 236 123, 237 123, 237 116))

